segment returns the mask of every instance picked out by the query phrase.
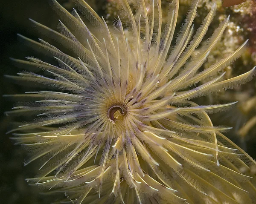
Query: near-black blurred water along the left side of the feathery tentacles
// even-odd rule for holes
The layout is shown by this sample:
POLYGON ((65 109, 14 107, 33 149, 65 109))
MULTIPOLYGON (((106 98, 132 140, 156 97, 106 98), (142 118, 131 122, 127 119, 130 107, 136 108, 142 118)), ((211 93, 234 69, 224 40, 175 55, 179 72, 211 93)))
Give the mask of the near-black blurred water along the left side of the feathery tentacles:
MULTIPOLYGON (((104 3, 106 1, 102 0, 104 3)), ((59 2, 69 6, 68 0, 59 0, 59 2)), ((90 3, 88 0, 87 2, 90 3)), ((29 18, 53 29, 56 29, 58 24, 58 17, 47 0, 0 0, 0 204, 50 203, 46 196, 39 194, 39 189, 29 186, 25 181, 29 175, 34 175, 35 169, 33 164, 28 167, 23 166, 26 152, 19 146, 13 145, 13 141, 9 139, 10 134, 6 135, 12 118, 6 117, 3 112, 12 108, 13 101, 1 97, 4 94, 26 91, 3 75, 15 75, 18 72, 18 69, 12 66, 9 57, 24 59, 32 55, 17 38, 17 33, 20 33, 34 40, 37 39, 38 33, 33 29, 29 18)), ((237 138, 232 139, 239 144, 237 138)), ((247 141, 245 147, 256 158, 255 140, 247 141)))

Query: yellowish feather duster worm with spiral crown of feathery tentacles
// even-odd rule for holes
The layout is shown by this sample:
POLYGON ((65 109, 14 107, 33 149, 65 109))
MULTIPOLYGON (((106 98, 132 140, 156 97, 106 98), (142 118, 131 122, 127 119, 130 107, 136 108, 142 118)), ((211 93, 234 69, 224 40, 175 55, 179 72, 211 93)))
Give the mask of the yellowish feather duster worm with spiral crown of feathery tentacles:
POLYGON ((35 72, 10 78, 53 89, 26 92, 22 96, 32 102, 9 112, 36 115, 34 121, 10 131, 32 152, 26 164, 41 158, 38 177, 28 181, 57 189, 73 203, 252 202, 256 162, 222 134, 228 127, 213 126, 208 115, 234 103, 191 101, 253 77, 254 69, 227 80, 225 73, 218 74, 239 57, 245 43, 200 69, 228 18, 199 47, 215 5, 194 32, 199 2, 194 0, 174 43, 179 0, 170 3, 164 26, 160 0, 147 6, 137 0, 135 14, 127 0, 120 0, 123 18, 118 17, 113 30, 84 0, 74 2, 96 32, 75 9, 70 14, 52 0, 61 18, 61 33, 32 22, 71 53, 20 35, 47 51, 58 66, 35 57, 13 59, 17 66, 35 72))

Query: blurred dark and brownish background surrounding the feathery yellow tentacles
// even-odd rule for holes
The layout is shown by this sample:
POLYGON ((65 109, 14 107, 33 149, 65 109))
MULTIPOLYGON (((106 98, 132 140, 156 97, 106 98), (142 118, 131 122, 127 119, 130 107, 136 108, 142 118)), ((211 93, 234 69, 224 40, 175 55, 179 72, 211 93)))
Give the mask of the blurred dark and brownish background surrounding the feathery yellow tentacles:
MULTIPOLYGON (((131 0, 135 1, 135 0, 131 0)), ((149 0, 145 0, 147 2, 149 0)), ((168 3, 171 0, 162 0, 163 22, 166 20, 168 3), (166 4, 166 6, 165 6, 166 4)), ((58 0, 65 8, 73 8, 72 0, 58 0)), ((108 23, 118 15, 118 6, 115 0, 87 0, 87 2, 108 23)), ((238 5, 223 8, 221 0, 201 0, 198 16, 195 23, 200 25, 201 20, 212 4, 217 3, 217 14, 209 29, 212 32, 228 14, 231 15, 230 23, 218 46, 211 52, 204 66, 218 61, 224 55, 229 55, 237 49, 246 39, 249 39, 246 52, 235 63, 226 67, 226 77, 231 78, 249 71, 256 65, 256 3, 247 0, 238 5)), ((179 23, 184 19, 191 0, 180 0, 179 23)), ((49 204, 46 196, 40 195, 40 190, 27 185, 25 178, 35 176, 33 163, 23 166, 26 152, 15 146, 6 135, 12 122, 11 117, 6 117, 5 111, 10 110, 13 101, 2 97, 5 94, 17 94, 27 91, 4 78, 3 75, 15 75, 19 70, 12 65, 9 57, 24 59, 33 56, 33 52, 19 42, 17 33, 37 40, 42 37, 33 28, 29 18, 48 27, 58 30, 58 16, 49 6, 48 0, 0 0, 0 203, 6 204, 49 204)), ((111 24, 111 23, 110 23, 111 24)), ((50 42, 49 42, 50 43, 50 42)), ((230 111, 211 115, 213 124, 233 127, 226 135, 242 147, 253 158, 256 158, 256 79, 237 89, 208 95, 196 100, 199 104, 216 104, 239 101, 230 111)))

